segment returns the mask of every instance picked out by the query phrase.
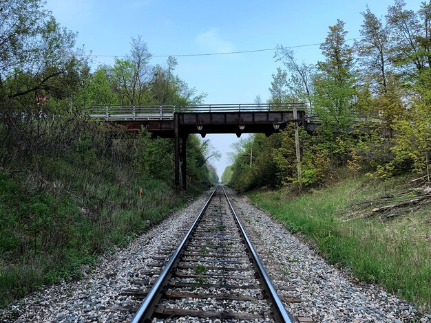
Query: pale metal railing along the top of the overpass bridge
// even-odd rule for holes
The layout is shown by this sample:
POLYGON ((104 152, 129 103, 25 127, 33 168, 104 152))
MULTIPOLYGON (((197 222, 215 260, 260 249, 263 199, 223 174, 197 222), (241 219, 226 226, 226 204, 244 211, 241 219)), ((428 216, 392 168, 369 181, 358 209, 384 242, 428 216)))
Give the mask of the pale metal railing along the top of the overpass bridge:
POLYGON ((173 120, 174 113, 211 112, 267 112, 299 111, 305 109, 303 103, 255 103, 255 104, 189 104, 189 105, 122 105, 98 106, 83 109, 90 118, 102 120, 173 120))

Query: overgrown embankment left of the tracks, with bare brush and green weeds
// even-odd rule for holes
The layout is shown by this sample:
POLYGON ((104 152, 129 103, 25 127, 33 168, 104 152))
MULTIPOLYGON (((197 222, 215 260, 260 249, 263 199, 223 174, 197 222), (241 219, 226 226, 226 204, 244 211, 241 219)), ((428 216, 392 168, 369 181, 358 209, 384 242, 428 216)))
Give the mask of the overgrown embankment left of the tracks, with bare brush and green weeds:
MULTIPOLYGON (((0 148, 0 307, 80 278, 100 254, 125 247, 187 201, 173 185, 169 139, 79 114, 20 121, 27 137, 0 125, 8 138, 0 148)), ((196 196, 209 187, 209 170, 197 137, 189 136, 187 151, 187 194, 196 196)))

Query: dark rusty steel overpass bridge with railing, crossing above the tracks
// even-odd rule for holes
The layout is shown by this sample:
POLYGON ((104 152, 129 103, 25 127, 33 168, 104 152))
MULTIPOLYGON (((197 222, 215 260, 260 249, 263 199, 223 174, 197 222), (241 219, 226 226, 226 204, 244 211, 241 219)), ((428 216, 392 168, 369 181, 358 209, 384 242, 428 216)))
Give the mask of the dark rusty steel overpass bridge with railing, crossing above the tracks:
POLYGON ((305 126, 303 103, 282 104, 189 104, 105 106, 86 108, 93 119, 115 122, 127 131, 145 128, 153 135, 175 140, 175 183, 186 188, 186 141, 191 133, 272 133, 288 122, 305 126))

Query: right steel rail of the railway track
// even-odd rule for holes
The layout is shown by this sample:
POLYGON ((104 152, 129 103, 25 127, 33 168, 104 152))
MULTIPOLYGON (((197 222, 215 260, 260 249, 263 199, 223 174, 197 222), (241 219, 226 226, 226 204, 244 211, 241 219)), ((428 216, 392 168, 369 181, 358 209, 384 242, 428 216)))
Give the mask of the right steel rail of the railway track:
POLYGON ((227 203, 229 203, 229 208, 231 208, 231 212, 233 213, 233 217, 235 218, 236 223, 238 223, 238 226, 240 227, 240 231, 242 233, 242 236, 244 237, 244 240, 246 241, 246 246, 249 249, 249 252, 251 252, 253 256, 253 262, 255 263, 255 267, 257 271, 260 274, 260 277, 262 278, 262 281, 264 282, 264 285, 266 285, 266 288, 269 291, 269 298, 271 299, 273 309, 275 310, 275 319, 276 322, 296 322, 295 320, 291 319, 291 316, 288 315, 286 309, 284 308, 284 305, 282 303, 282 300, 280 300, 280 297, 277 294, 277 291, 275 291, 275 287, 273 286, 273 283, 271 282, 271 279, 269 278, 268 274, 266 273, 266 270, 264 269, 264 266, 259 260, 259 256, 257 256, 257 253, 255 252, 255 249, 253 247, 253 243, 251 243, 249 236, 247 236, 244 227, 242 227, 242 224, 240 222, 240 219, 238 219, 238 216, 236 215, 235 210, 233 210, 233 206, 231 201, 229 201, 229 197, 227 197, 226 191, 224 190, 224 187, 222 186, 222 190, 224 193, 224 197, 227 199, 227 203))

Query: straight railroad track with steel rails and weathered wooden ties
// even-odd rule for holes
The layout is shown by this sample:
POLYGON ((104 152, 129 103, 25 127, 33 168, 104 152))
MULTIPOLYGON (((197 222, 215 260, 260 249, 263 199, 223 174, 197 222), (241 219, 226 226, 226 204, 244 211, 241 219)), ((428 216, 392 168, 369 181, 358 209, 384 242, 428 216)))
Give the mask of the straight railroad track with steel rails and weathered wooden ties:
POLYGON ((167 247, 153 259, 158 262, 151 266, 160 268, 160 276, 151 289, 123 291, 146 296, 133 323, 313 322, 286 312, 222 186, 213 191, 176 251, 167 247))

